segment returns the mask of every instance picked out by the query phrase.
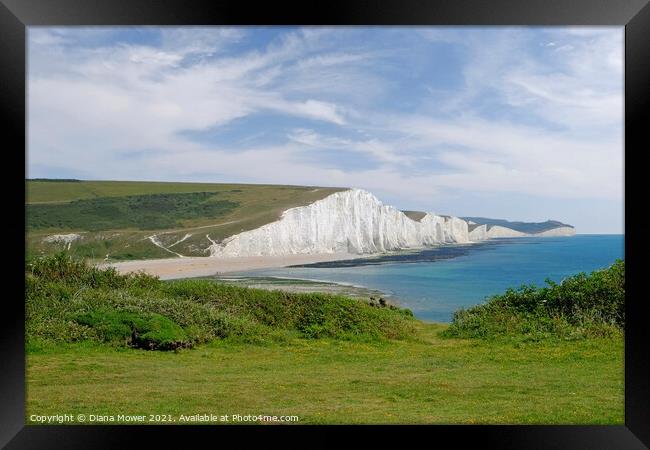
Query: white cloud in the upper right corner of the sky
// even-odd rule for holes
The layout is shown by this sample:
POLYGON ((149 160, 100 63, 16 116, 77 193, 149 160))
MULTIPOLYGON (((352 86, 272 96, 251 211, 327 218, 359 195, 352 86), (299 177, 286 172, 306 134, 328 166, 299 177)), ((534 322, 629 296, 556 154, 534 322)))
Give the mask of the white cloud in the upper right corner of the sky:
POLYGON ((503 92, 509 103, 576 132, 601 134, 605 127, 620 135, 622 29, 549 34, 564 43, 549 50, 543 62, 528 58, 505 75, 503 92))

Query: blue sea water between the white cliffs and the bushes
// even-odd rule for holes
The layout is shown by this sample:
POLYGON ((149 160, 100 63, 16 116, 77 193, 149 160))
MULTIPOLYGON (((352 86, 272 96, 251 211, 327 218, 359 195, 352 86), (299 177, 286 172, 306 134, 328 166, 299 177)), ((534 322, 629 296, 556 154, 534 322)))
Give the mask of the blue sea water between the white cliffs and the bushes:
POLYGON ((460 307, 522 284, 555 282, 624 258, 623 235, 516 238, 453 245, 379 258, 242 272, 347 283, 377 289, 416 317, 450 322, 460 307))

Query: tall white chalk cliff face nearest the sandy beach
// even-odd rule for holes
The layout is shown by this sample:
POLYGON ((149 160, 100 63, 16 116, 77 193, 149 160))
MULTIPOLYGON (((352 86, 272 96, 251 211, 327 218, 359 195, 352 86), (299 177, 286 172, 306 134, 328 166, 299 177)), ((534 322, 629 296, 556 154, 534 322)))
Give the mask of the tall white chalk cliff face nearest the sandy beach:
POLYGON ((469 242, 467 222, 427 213, 420 221, 361 189, 291 208, 275 222, 213 243, 211 256, 378 253, 469 242))

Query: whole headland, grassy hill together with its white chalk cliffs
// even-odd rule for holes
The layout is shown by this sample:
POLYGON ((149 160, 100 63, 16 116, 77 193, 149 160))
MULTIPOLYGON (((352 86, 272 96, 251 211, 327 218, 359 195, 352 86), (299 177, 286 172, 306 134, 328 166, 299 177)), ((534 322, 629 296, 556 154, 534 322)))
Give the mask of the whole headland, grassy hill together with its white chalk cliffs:
POLYGON ((575 234, 572 226, 551 220, 400 211, 367 191, 348 188, 32 179, 26 194, 27 256, 66 250, 94 262, 373 253, 575 234))

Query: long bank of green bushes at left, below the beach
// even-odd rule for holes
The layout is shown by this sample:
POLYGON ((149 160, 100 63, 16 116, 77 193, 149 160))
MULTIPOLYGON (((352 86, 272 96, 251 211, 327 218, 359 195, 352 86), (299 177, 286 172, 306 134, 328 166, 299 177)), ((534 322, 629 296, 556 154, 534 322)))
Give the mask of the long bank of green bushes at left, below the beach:
POLYGON ((163 282, 100 270, 60 253, 26 266, 28 343, 95 340, 167 350, 214 339, 406 338, 410 311, 327 294, 248 289, 211 280, 163 282))

